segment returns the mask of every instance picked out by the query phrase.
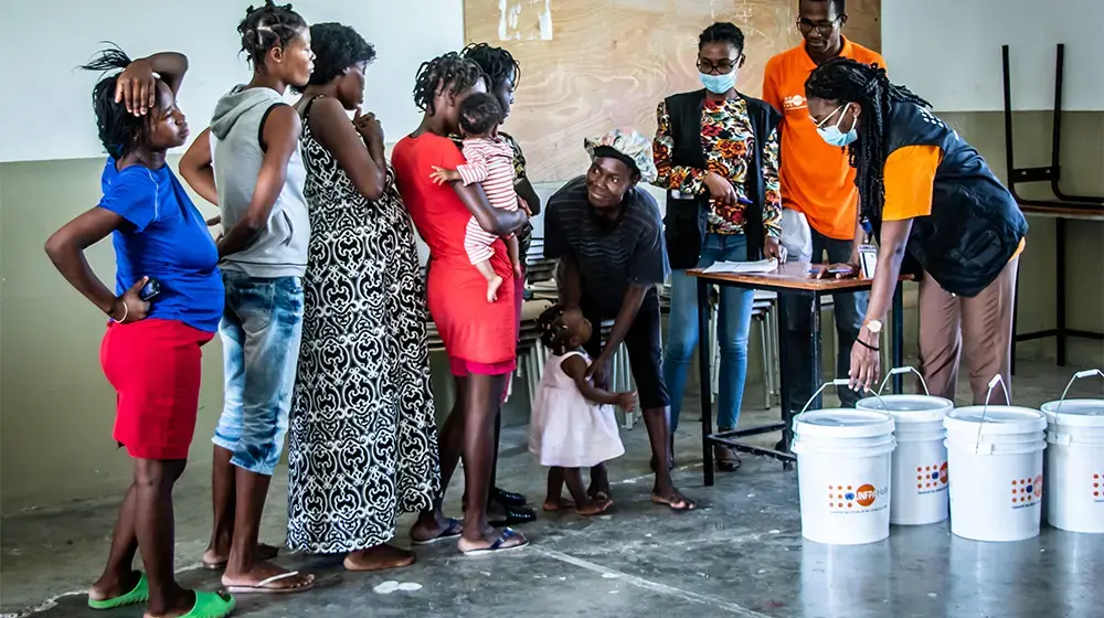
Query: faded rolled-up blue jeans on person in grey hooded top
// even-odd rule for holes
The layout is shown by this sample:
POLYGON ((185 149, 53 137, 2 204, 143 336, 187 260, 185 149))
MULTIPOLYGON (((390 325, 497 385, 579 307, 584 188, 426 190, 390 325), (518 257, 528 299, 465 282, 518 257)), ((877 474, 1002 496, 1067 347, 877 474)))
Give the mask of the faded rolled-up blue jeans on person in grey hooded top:
POLYGON ((225 388, 216 446, 231 464, 272 476, 284 449, 302 335, 302 280, 223 270, 222 339, 225 388))

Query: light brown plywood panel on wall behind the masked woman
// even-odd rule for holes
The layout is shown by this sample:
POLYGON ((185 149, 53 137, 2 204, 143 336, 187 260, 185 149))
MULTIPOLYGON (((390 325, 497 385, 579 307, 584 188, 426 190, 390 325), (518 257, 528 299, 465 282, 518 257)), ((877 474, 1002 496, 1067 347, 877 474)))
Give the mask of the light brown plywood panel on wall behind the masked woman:
MULTIPOLYGON (((845 33, 879 50, 881 0, 848 2, 845 33)), ((507 129, 535 181, 583 173, 583 138, 614 127, 651 136, 656 106, 697 89, 698 35, 714 21, 744 31, 737 86, 762 92, 763 67, 800 41, 797 0, 465 0, 465 38, 509 49, 521 85, 507 129)))

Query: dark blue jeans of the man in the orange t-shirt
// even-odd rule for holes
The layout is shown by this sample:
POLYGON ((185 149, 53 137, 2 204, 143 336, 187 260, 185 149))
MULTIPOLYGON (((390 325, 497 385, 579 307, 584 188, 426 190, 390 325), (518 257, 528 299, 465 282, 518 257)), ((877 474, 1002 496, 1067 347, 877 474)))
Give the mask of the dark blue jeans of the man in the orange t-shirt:
MULTIPOLYGON (((852 241, 829 238, 816 230, 811 232, 814 263, 820 263, 825 254, 828 254, 828 262, 832 264, 847 262, 851 258, 852 241)), ((862 328, 869 299, 870 292, 866 291, 832 295, 832 311, 836 316, 836 334, 839 342, 836 353, 835 377, 847 377, 847 373, 851 369, 851 348, 859 337, 859 329, 862 328)), ((818 376, 816 384, 809 383, 813 375, 813 350, 809 342, 809 338, 813 335, 813 299, 789 296, 783 297, 779 301, 786 302, 788 310, 787 322, 781 324, 782 337, 787 338, 788 343, 786 358, 781 360, 782 371, 790 376, 789 407, 790 412, 796 414, 813 397, 813 393, 820 387, 821 382, 818 376)), ((837 393, 843 407, 854 407, 854 403, 861 396, 860 393, 846 386, 839 387, 837 393)))

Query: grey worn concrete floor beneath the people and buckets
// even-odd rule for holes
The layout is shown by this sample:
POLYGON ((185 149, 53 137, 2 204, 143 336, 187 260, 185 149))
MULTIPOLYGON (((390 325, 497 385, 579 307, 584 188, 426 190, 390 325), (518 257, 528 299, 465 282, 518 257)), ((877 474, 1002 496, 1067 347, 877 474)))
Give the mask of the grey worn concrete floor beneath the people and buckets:
MULTIPOLYGON (((1021 363, 1013 398, 1057 398, 1071 370, 1021 363)), ((960 391, 965 393, 965 390, 960 391)), ((1097 384, 1080 396, 1101 396, 1097 384)), ((755 405, 757 397, 750 397, 755 405)), ((694 406, 696 407, 696 406, 694 406)), ((692 409, 691 409, 692 412, 692 409)), ((745 411, 742 424, 776 418, 745 411)), ((894 528, 882 543, 831 547, 803 541, 797 473, 745 458, 713 488, 701 484, 698 425, 678 441, 676 480, 700 510, 676 514, 648 501, 650 476, 643 426, 624 434, 628 455, 611 468, 615 512, 584 520, 543 516, 524 526, 522 551, 465 558, 455 545, 418 550, 418 563, 383 574, 349 574, 340 558, 284 556, 318 585, 293 596, 238 597, 237 616, 539 616, 650 615, 783 617, 1092 617, 1104 615, 1104 536, 1043 526, 1034 540, 986 544, 951 535, 946 524, 894 528), (393 590, 396 584, 413 584, 393 590)), ((512 434, 518 436, 517 433, 512 434)), ((769 444, 777 438, 764 438, 769 444)), ((501 486, 543 498, 542 470, 520 449, 502 458, 501 486)), ((283 539, 286 473, 277 475, 262 539, 283 539)), ((205 471, 184 476, 176 492, 177 556, 184 585, 214 589, 198 568, 210 525, 205 471)), ((460 491, 449 492, 454 514, 460 491)), ((0 608, 4 617, 94 616, 82 588, 98 575, 118 497, 3 520, 0 608)), ((405 543, 405 535, 401 536, 405 543)), ((110 612, 137 618, 140 608, 110 612)))

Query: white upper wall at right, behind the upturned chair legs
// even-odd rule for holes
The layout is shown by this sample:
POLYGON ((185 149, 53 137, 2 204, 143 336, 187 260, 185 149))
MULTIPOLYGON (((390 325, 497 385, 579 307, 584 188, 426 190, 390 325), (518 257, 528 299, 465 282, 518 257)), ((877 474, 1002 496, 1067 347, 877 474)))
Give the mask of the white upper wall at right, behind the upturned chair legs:
POLYGON ((1005 44, 1013 109, 1051 109, 1058 43, 1065 44, 1062 108, 1104 110, 1102 33, 1104 0, 882 0, 891 78, 941 111, 1004 109, 1005 44))

